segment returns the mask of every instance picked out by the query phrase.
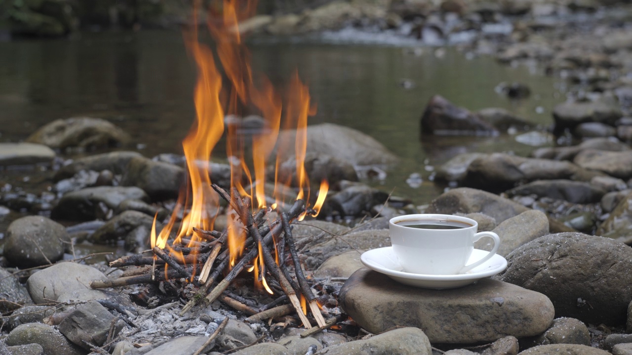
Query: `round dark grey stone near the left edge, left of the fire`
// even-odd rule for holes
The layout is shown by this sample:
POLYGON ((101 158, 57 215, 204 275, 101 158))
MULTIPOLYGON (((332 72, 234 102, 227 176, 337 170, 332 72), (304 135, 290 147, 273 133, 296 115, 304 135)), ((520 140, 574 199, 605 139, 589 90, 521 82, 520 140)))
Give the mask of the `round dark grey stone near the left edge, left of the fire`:
POLYGON ((64 243, 70 238, 66 228, 51 219, 27 216, 14 220, 4 239, 4 257, 18 267, 54 263, 64 256, 64 243))

